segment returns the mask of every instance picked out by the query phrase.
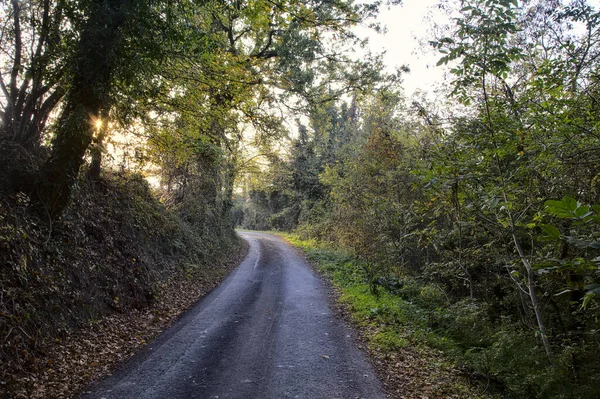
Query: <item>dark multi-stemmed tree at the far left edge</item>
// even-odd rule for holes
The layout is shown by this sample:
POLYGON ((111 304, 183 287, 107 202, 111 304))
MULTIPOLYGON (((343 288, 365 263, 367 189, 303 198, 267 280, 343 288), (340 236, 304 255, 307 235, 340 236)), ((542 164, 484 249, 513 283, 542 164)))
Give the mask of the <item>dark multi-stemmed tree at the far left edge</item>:
POLYGON ((25 186, 42 158, 47 122, 70 77, 73 27, 80 23, 74 9, 67 0, 14 0, 0 6, 0 48, 7 61, 0 70, 0 170, 6 188, 28 191, 25 186))

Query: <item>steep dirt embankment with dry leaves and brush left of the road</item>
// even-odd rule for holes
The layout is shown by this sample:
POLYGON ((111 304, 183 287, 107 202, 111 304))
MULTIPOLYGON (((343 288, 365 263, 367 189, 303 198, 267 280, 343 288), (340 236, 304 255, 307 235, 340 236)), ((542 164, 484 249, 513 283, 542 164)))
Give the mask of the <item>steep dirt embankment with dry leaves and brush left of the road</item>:
POLYGON ((0 398, 72 397, 228 274, 233 229, 184 212, 132 175, 82 182, 52 224, 0 195, 0 398))

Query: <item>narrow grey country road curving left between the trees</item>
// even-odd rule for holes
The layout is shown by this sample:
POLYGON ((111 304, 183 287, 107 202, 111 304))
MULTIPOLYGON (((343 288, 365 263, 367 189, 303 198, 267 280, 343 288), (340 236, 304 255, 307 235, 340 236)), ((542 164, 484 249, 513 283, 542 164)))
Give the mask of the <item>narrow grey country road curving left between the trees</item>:
POLYGON ((242 264, 84 398, 385 398, 304 258, 275 236, 241 234, 242 264))

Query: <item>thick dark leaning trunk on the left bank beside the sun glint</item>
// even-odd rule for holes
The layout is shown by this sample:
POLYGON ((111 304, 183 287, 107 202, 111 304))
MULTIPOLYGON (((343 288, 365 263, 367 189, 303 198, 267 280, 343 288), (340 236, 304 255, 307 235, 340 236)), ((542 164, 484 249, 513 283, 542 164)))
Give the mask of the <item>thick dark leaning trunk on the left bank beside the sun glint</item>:
POLYGON ((75 61, 73 84, 52 141, 52 152, 40 172, 37 199, 52 218, 69 203, 73 185, 96 129, 94 119, 109 108, 113 70, 119 62, 119 27, 126 0, 94 0, 75 61))

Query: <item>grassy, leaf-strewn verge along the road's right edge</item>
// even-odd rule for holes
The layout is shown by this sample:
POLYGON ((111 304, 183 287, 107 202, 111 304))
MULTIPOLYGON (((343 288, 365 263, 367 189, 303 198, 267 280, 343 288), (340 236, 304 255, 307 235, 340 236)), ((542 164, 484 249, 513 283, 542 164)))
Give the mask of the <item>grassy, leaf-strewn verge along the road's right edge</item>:
POLYGON ((296 235, 277 234, 300 248, 334 285, 391 397, 493 397, 486 393, 487 381, 457 366, 458 343, 430 328, 431 309, 408 299, 436 293, 416 286, 374 291, 366 283, 365 265, 351 254, 296 235))

